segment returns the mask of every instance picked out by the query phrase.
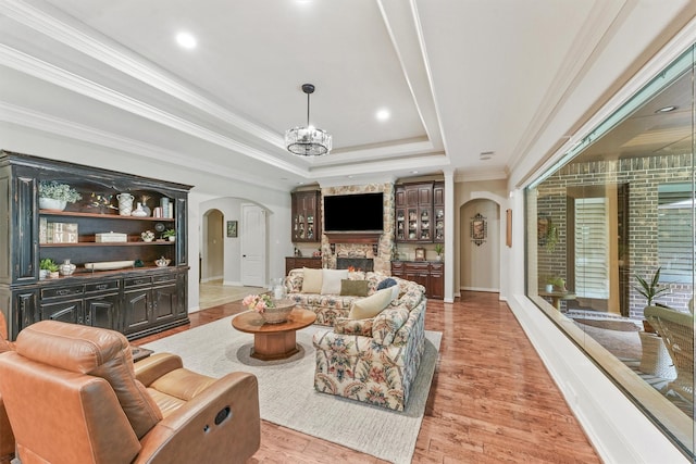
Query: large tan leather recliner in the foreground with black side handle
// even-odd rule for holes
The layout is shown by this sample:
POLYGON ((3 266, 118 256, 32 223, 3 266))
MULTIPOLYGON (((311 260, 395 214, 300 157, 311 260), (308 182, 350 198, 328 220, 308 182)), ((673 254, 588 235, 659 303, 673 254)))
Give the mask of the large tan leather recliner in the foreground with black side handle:
POLYGON ((0 392, 22 464, 243 463, 260 446, 257 378, 134 366, 117 331, 58 321, 22 330, 0 355, 0 392))

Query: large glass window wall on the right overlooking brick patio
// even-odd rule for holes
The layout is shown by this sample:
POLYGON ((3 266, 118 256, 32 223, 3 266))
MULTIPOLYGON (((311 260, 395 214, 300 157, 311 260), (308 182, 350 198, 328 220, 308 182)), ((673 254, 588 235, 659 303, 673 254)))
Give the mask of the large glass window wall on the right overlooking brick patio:
POLYGON ((694 456, 694 50, 526 189, 527 296, 694 456))

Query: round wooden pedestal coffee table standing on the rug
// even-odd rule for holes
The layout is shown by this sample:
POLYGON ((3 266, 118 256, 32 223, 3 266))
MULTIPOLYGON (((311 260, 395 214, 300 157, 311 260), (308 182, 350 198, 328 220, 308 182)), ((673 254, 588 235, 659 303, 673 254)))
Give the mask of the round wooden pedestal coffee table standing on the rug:
POLYGON ((284 360, 299 352, 296 331, 314 324, 316 314, 295 308, 288 319, 281 324, 264 324, 256 311, 241 313, 232 319, 232 326, 239 331, 253 334, 251 358, 262 361, 284 360))

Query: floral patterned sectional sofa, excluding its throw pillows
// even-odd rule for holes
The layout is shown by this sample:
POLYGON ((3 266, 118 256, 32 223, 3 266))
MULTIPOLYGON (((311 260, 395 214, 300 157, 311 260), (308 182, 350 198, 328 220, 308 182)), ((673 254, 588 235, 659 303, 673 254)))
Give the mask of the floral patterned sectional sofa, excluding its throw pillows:
POLYGON ((393 278, 398 298, 376 316, 348 318, 357 298, 301 293, 302 269, 286 278, 289 298, 316 313, 316 322, 333 325, 314 335, 316 391, 403 411, 418 374, 425 343, 425 288, 381 273, 349 273, 369 281, 369 296, 380 281, 393 278))

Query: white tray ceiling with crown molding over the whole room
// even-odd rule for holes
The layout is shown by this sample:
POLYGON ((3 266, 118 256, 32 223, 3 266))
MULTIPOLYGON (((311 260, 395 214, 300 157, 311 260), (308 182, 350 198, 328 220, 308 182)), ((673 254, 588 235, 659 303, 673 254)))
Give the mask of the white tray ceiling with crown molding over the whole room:
POLYGON ((598 66, 604 88, 625 80, 692 3, 0 0, 0 122, 199 174, 263 173, 284 189, 417 172, 506 178, 548 154, 533 152, 542 135, 587 117, 596 97, 554 126, 598 66), (176 45, 181 30, 196 49, 176 45), (609 45, 625 60, 602 61, 609 45), (327 156, 283 147, 306 123, 303 83, 316 86, 312 124, 334 137, 327 156), (376 121, 380 109, 390 120, 376 121))

